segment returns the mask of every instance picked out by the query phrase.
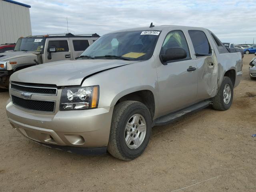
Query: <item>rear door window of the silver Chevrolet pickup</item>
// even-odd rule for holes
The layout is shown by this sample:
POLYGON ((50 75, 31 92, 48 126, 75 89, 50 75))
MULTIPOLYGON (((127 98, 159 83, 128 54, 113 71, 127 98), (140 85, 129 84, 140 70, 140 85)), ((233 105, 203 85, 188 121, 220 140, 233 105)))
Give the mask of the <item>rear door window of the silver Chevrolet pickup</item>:
POLYGON ((210 44, 208 42, 208 39, 204 32, 202 31, 196 31, 196 30, 190 30, 188 31, 188 34, 191 38, 194 50, 196 54, 210 54, 211 48, 210 44))

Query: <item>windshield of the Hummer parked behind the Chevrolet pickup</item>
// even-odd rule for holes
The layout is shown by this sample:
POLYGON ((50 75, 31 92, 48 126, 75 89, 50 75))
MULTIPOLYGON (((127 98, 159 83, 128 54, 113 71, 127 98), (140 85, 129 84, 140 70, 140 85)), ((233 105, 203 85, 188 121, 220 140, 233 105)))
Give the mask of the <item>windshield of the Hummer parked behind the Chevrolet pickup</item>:
POLYGON ((14 51, 37 51, 42 52, 44 49, 44 38, 19 38, 14 51))

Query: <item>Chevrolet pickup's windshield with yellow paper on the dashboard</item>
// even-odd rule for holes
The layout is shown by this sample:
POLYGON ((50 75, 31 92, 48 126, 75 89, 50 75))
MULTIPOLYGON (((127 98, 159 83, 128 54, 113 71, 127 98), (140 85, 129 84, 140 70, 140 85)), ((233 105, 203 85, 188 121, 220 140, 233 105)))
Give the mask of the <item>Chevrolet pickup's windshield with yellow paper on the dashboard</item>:
POLYGON ((160 31, 127 31, 106 34, 96 40, 80 56, 97 59, 148 60, 151 58, 160 31), (106 57, 108 56, 108 57, 106 57))

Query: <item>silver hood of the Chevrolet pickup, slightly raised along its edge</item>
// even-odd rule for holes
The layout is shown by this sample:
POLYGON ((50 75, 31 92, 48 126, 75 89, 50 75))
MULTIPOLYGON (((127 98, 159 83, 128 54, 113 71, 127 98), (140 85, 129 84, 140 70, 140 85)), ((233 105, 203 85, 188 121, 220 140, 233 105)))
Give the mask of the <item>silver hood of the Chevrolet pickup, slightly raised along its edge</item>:
POLYGON ((135 62, 138 61, 112 59, 58 61, 19 70, 12 74, 10 81, 57 86, 80 85, 86 76, 135 62))

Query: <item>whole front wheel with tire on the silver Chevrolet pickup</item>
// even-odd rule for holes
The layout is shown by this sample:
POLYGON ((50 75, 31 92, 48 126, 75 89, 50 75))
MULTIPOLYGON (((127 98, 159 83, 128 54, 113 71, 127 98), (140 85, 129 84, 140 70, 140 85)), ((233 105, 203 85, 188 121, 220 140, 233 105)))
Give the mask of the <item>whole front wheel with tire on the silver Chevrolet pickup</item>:
POLYGON ((121 160, 140 156, 148 145, 152 119, 148 108, 137 101, 124 101, 114 108, 108 152, 121 160))

